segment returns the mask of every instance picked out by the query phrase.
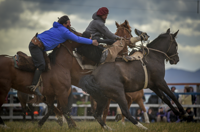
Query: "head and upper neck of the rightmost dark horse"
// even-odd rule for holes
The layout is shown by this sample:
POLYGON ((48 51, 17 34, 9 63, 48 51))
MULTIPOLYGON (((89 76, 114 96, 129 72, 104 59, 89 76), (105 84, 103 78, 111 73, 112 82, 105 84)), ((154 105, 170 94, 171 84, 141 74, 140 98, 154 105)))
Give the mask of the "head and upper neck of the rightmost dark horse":
POLYGON ((155 40, 153 40, 147 47, 156 49, 158 52, 163 53, 166 56, 166 61, 169 61, 170 64, 177 64, 179 62, 178 56, 178 44, 176 42, 177 32, 170 33, 170 28, 159 35, 155 40))

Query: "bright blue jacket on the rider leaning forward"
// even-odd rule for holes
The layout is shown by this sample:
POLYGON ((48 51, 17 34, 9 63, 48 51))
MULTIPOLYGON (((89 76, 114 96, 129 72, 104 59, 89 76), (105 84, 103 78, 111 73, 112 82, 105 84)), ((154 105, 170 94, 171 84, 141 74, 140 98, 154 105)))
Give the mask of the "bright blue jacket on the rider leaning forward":
POLYGON ((92 44, 92 40, 75 35, 58 22, 54 22, 51 29, 38 34, 37 37, 43 42, 44 51, 52 50, 68 39, 77 43, 92 44))

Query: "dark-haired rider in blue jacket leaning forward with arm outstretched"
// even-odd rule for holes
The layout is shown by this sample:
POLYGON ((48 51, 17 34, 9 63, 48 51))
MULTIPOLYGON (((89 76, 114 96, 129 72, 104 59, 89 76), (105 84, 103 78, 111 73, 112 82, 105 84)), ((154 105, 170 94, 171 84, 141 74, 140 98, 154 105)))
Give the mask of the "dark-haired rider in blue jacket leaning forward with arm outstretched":
POLYGON ((53 27, 44 31, 41 34, 36 34, 29 44, 29 51, 31 53, 33 63, 36 67, 33 81, 31 86, 28 86, 30 91, 34 91, 39 97, 42 96, 39 89, 36 87, 41 73, 45 70, 45 60, 43 52, 54 49, 60 43, 66 40, 72 40, 82 44, 93 44, 98 46, 96 40, 90 40, 87 38, 79 37, 72 33, 69 28, 71 26, 68 16, 62 16, 58 19, 58 22, 53 23, 53 27))

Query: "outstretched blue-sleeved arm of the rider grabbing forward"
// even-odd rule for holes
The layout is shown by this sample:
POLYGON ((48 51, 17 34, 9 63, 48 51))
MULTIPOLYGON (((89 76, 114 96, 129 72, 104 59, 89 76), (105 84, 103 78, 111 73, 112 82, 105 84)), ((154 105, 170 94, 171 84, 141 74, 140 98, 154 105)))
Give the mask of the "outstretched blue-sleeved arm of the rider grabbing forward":
POLYGON ((77 35, 75 35, 74 33, 70 32, 68 29, 65 30, 63 37, 66 40, 72 40, 75 41, 77 43, 82 43, 82 44, 92 44, 92 40, 91 39, 87 39, 87 38, 83 38, 83 37, 79 37, 77 35))

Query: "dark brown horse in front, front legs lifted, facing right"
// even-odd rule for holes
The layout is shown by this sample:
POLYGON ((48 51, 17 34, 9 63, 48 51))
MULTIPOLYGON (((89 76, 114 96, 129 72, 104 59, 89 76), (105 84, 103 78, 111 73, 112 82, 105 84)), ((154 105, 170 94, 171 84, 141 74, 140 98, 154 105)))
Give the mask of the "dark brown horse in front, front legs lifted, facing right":
MULTIPOLYGON (((148 88, 153 90, 171 109, 179 116, 185 115, 185 111, 177 101, 174 94, 169 90, 164 80, 165 59, 170 64, 176 64, 179 61, 177 53, 177 43, 175 40, 178 31, 159 35, 154 41, 147 45, 148 55, 145 58, 148 72, 148 88), (177 111, 167 99, 165 92, 177 105, 177 111)), ((144 87, 145 74, 141 61, 132 61, 130 63, 115 62, 106 63, 99 66, 91 75, 86 75, 80 80, 80 87, 89 93, 97 102, 95 119, 105 128, 110 129, 101 119, 102 112, 109 99, 116 101, 122 111, 122 114, 133 124, 142 129, 147 129, 137 122, 128 110, 125 92, 135 92, 144 87)))

